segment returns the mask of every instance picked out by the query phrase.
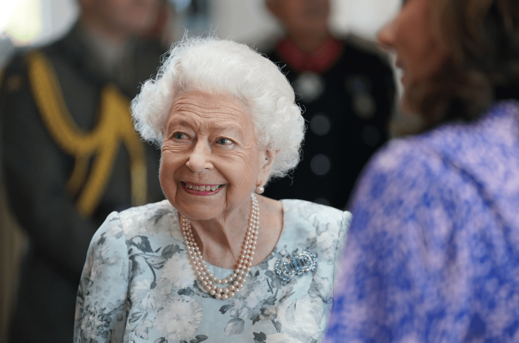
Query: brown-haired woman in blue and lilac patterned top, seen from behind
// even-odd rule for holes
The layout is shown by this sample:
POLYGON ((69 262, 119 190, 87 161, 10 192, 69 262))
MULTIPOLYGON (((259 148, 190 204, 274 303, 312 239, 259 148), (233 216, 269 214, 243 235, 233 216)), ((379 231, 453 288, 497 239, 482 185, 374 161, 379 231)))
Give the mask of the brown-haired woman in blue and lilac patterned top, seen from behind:
POLYGON ((519 2, 407 0, 379 34, 427 122, 368 164, 327 342, 519 341, 519 2))

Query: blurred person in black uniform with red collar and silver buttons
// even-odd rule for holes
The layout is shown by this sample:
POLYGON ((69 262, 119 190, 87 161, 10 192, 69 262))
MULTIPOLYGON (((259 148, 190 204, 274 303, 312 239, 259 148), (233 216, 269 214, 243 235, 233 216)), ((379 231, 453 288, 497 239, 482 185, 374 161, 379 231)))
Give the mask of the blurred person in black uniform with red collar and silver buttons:
POLYGON ((365 162, 387 139, 391 68, 360 39, 330 33, 330 0, 266 0, 266 6, 285 29, 266 54, 286 64, 282 71, 299 95, 308 129, 292 177, 271 182, 265 194, 344 209, 365 162))

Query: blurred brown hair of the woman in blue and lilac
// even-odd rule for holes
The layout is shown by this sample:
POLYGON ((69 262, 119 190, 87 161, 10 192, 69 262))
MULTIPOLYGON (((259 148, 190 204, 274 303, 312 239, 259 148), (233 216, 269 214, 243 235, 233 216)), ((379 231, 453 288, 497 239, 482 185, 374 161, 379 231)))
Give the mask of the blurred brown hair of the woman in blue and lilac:
POLYGON ((449 56, 432 79, 409 87, 424 130, 480 117, 491 103, 519 99, 519 0, 430 0, 433 34, 449 56))

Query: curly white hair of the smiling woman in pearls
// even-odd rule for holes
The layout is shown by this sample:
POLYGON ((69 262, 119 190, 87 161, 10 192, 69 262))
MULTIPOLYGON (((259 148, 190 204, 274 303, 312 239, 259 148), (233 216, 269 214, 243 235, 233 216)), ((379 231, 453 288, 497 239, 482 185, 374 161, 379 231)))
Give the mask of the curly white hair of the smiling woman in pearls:
POLYGON ((231 40, 184 37, 131 103, 142 138, 160 147, 174 100, 192 91, 223 94, 247 106, 257 145, 279 150, 269 180, 295 168, 305 123, 294 91, 276 64, 231 40))

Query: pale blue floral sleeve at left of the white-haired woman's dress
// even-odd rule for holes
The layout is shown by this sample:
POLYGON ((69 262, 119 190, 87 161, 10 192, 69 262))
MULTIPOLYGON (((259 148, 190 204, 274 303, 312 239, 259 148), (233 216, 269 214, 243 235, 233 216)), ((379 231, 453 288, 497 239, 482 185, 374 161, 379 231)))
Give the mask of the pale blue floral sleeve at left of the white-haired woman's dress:
POLYGON ((76 299, 74 342, 122 343, 128 316, 129 257, 117 212, 88 248, 76 299))

